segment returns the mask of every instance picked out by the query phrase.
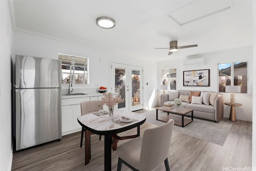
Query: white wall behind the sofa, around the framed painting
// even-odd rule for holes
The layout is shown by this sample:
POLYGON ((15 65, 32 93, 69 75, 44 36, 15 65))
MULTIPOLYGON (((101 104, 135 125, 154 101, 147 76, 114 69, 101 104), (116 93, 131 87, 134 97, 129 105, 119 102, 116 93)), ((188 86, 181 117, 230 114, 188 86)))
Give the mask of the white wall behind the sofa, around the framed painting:
MULTIPOLYGON (((158 63, 158 75, 160 76, 161 68, 177 68, 177 90, 191 90, 191 91, 215 91, 218 92, 218 64, 227 62, 248 62, 248 93, 236 93, 236 103, 241 103, 241 107, 236 107, 236 119, 244 121, 252 121, 252 47, 244 47, 221 52, 213 52, 208 54, 200 54, 181 58, 180 60, 170 60, 158 63), (183 60, 191 58, 205 58, 204 66, 190 66, 184 67, 183 60), (183 86, 183 71, 190 70, 204 70, 210 69, 210 86, 209 87, 196 87, 196 86, 183 86)), ((160 84, 160 77, 158 77, 160 84)), ((159 91, 160 92, 160 91, 159 91)), ((224 102, 230 102, 230 93, 221 93, 224 97, 224 102)), ((158 95, 159 96, 159 95, 158 95)), ((230 106, 224 105, 224 117, 229 117, 230 106)))

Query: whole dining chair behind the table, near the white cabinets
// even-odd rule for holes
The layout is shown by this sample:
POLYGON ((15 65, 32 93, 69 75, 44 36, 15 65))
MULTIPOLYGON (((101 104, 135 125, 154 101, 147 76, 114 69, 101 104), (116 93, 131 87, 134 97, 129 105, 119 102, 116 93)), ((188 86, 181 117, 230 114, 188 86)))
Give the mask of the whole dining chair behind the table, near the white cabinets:
MULTIPOLYGON (((92 113, 92 112, 99 111, 100 109, 103 109, 103 106, 100 106, 100 107, 98 106, 100 104, 100 100, 82 101, 80 104, 81 104, 81 115, 85 115, 87 113, 92 113)), ((80 147, 82 147, 83 145, 84 131, 86 131, 86 129, 82 127, 80 147)), ((90 131, 88 131, 88 133, 90 135, 93 134, 90 131)), ((100 139, 101 139, 101 135, 100 135, 100 139)))

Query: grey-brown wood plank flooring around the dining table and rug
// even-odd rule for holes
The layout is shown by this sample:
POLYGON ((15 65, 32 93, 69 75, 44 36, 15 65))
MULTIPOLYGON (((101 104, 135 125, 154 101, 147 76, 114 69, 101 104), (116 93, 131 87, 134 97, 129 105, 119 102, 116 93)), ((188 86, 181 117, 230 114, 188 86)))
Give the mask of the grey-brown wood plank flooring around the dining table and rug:
MULTIPOLYGON (((147 110, 136 111, 143 113, 147 110)), ((223 118, 222 121, 229 121, 223 118)), ((174 131, 168 161, 171 171, 223 171, 227 167, 245 168, 252 165, 252 122, 232 122, 232 128, 223 146, 174 131)), ((141 135, 151 123, 141 125, 141 135)), ((136 128, 122 133, 132 135, 136 128)), ((120 135, 122 135, 120 134, 120 135)), ((104 170, 104 137, 91 135, 91 160, 84 165, 84 144, 80 148, 81 132, 13 153, 13 171, 102 171, 104 170)), ((119 141, 118 145, 125 141, 119 141)), ((112 170, 117 169, 118 157, 112 151, 112 170)), ((155 171, 164 171, 164 161, 155 171)), ((227 169, 226 169, 227 170, 227 169)), ((124 164, 122 171, 130 171, 124 164)))

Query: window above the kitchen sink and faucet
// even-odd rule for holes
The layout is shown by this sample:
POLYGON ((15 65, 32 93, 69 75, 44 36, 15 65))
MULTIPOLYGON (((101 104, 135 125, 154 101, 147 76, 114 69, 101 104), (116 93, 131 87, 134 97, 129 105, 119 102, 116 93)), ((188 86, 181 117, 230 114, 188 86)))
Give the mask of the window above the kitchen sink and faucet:
POLYGON ((62 84, 89 84, 89 58, 58 54, 62 61, 62 84))

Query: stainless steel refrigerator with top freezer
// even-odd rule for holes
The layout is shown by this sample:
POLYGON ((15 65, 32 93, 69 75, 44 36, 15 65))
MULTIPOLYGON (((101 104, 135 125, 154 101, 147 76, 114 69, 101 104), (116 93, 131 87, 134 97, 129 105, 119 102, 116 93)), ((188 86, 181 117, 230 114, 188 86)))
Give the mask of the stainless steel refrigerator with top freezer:
POLYGON ((16 151, 61 136, 61 61, 16 55, 16 151))

